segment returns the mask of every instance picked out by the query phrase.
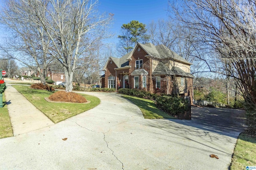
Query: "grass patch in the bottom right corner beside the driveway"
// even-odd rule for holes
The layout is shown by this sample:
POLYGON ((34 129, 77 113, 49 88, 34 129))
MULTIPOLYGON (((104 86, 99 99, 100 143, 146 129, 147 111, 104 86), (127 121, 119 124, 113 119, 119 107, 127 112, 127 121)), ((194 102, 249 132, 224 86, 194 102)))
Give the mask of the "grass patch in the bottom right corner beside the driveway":
POLYGON ((230 170, 245 170, 256 166, 256 137, 241 133, 236 142, 230 170))

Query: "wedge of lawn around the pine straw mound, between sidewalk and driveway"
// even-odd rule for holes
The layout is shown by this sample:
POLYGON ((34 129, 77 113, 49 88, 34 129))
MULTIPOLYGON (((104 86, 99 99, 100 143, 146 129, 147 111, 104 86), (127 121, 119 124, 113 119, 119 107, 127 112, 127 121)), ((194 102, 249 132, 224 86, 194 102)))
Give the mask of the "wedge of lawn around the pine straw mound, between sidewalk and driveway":
POLYGON ((54 123, 63 121, 69 117, 92 109, 100 104, 100 99, 94 96, 81 94, 89 100, 89 104, 79 104, 79 103, 53 103, 47 102, 44 98, 49 97, 52 92, 46 90, 31 89, 28 86, 13 86, 16 88, 23 96, 25 96, 34 106, 36 106, 40 111, 42 111, 47 117, 49 117, 54 123))

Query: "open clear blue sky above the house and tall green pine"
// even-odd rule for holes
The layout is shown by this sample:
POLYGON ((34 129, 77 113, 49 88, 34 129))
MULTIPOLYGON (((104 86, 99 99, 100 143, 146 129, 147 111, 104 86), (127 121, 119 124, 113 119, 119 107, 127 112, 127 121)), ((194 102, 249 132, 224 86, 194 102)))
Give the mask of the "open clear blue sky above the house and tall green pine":
POLYGON ((98 10, 114 14, 111 31, 115 33, 109 43, 117 43, 121 26, 132 20, 148 25, 151 21, 167 19, 168 0, 99 0, 98 10))

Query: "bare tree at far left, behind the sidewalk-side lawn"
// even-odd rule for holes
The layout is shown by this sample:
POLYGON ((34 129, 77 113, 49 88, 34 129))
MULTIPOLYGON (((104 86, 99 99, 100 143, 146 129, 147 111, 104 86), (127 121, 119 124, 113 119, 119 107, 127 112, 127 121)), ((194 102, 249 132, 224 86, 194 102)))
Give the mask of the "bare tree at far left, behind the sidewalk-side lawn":
MULTIPOLYGON (((0 21, 6 25, 9 35, 12 36, 7 37, 1 49, 9 58, 17 59, 23 65, 37 70, 41 82, 45 84, 47 69, 53 60, 49 54, 50 39, 46 37, 43 27, 33 24, 32 20, 36 22, 36 18, 32 15, 35 13, 29 3, 29 1, 7 1, 0 21)), ((46 17, 43 6, 38 8, 41 15, 46 17)))

